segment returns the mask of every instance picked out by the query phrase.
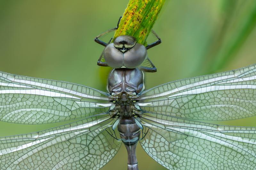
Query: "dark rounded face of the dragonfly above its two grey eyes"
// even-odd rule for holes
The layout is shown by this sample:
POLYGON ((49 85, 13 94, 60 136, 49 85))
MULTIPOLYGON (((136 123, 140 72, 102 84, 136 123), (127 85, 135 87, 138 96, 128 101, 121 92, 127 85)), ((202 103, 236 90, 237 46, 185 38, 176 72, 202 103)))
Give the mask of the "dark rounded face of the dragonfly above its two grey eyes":
POLYGON ((121 35, 116 37, 114 46, 121 49, 132 48, 136 44, 136 39, 130 35, 121 35))

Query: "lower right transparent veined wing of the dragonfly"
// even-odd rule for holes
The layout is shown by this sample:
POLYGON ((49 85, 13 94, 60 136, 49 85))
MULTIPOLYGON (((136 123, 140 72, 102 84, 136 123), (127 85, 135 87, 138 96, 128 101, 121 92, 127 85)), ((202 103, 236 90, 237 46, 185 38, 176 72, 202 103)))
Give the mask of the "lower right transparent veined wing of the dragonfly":
POLYGON ((165 115, 140 118, 142 148, 168 169, 255 169, 256 128, 207 124, 165 115))

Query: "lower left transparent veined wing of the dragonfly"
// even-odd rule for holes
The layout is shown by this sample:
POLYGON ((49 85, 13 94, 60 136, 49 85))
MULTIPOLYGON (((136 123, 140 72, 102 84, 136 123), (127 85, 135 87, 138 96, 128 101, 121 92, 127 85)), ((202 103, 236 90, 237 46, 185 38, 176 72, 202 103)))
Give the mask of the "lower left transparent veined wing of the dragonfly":
POLYGON ((120 148, 102 114, 36 133, 0 138, 1 169, 100 169, 120 148))

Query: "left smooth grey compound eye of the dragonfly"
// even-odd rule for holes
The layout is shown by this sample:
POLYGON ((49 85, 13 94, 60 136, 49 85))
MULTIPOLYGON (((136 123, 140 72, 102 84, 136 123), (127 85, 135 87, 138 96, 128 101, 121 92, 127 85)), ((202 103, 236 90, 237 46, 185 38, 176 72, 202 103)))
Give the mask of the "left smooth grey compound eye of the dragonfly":
POLYGON ((108 44, 103 53, 109 67, 117 69, 123 66, 123 53, 116 49, 113 43, 108 44))

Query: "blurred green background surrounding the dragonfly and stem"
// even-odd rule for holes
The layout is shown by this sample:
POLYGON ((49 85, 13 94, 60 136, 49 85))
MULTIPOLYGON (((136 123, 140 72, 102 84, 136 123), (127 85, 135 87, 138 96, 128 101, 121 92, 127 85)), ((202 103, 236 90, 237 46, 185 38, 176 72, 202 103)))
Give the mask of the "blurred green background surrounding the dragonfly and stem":
MULTIPOLYGON (((127 1, 0 0, 0 71, 56 79, 106 91, 108 68, 96 65, 103 47, 94 37, 116 26, 127 1)), ((146 88, 256 63, 255 0, 167 0, 154 30, 163 43, 148 50, 157 67, 146 88)), ((255 119, 218 122, 256 126, 255 119)), ((0 136, 64 123, 0 122, 0 136)), ((140 169, 165 169, 138 145, 140 169)), ((127 169, 124 146, 102 169, 127 169)))

